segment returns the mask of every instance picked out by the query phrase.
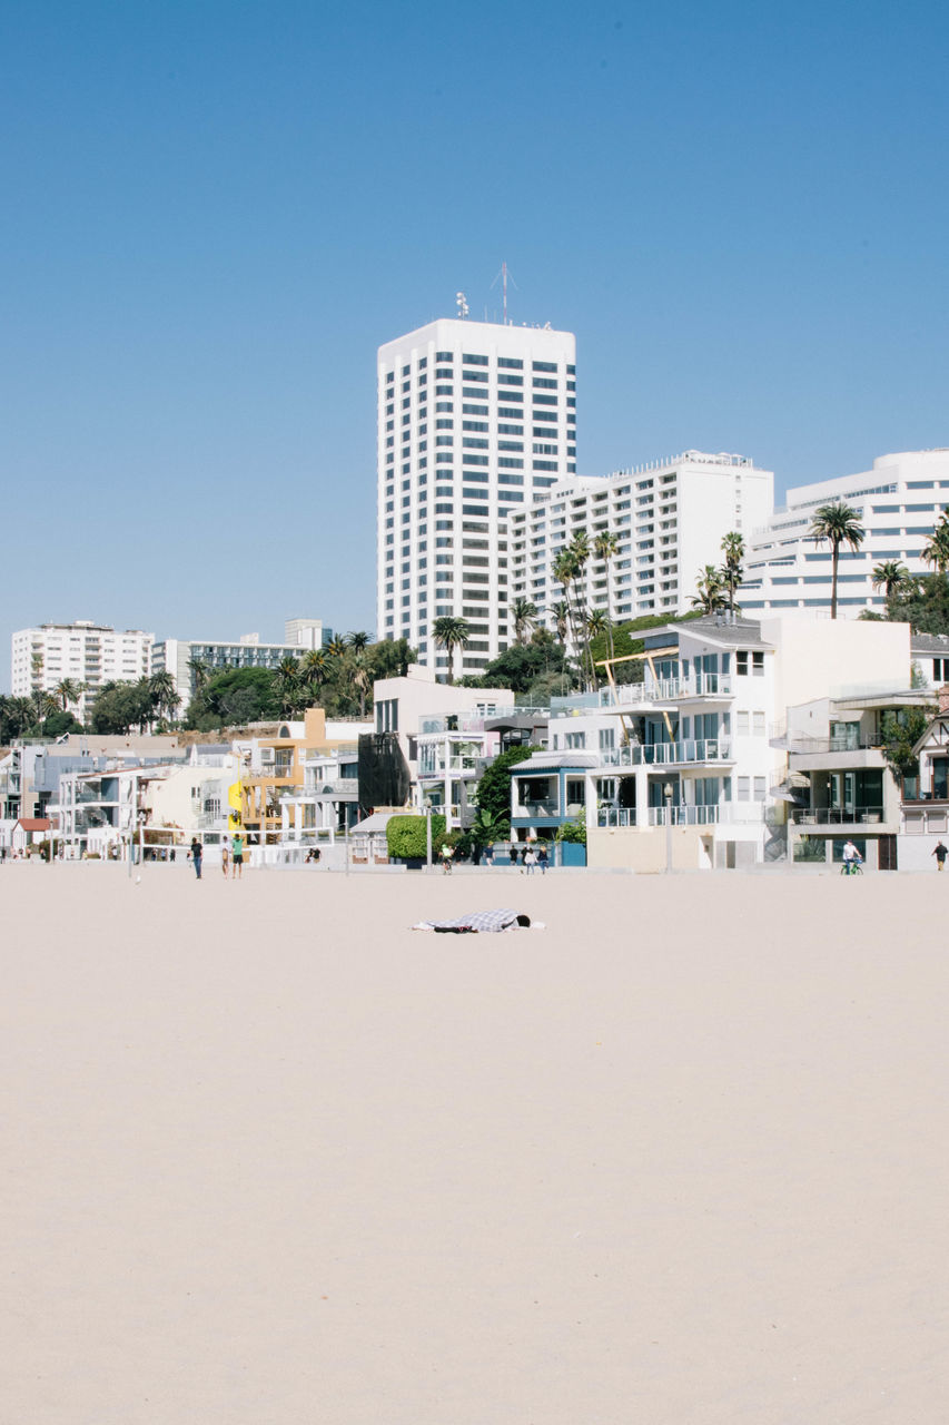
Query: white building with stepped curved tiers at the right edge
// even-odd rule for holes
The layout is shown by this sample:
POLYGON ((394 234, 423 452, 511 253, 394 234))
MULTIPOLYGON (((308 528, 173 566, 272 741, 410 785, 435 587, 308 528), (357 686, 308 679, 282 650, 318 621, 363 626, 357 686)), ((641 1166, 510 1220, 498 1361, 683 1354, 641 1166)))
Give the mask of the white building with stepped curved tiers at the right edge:
POLYGON ((949 449, 883 455, 873 469, 788 490, 787 504, 745 540, 745 583, 738 594, 745 613, 831 608, 831 549, 811 537, 814 512, 842 500, 859 514, 866 537, 858 550, 842 546, 838 617, 882 608, 873 589, 876 564, 898 560, 911 574, 932 573, 922 559, 942 510, 949 504, 949 449))

